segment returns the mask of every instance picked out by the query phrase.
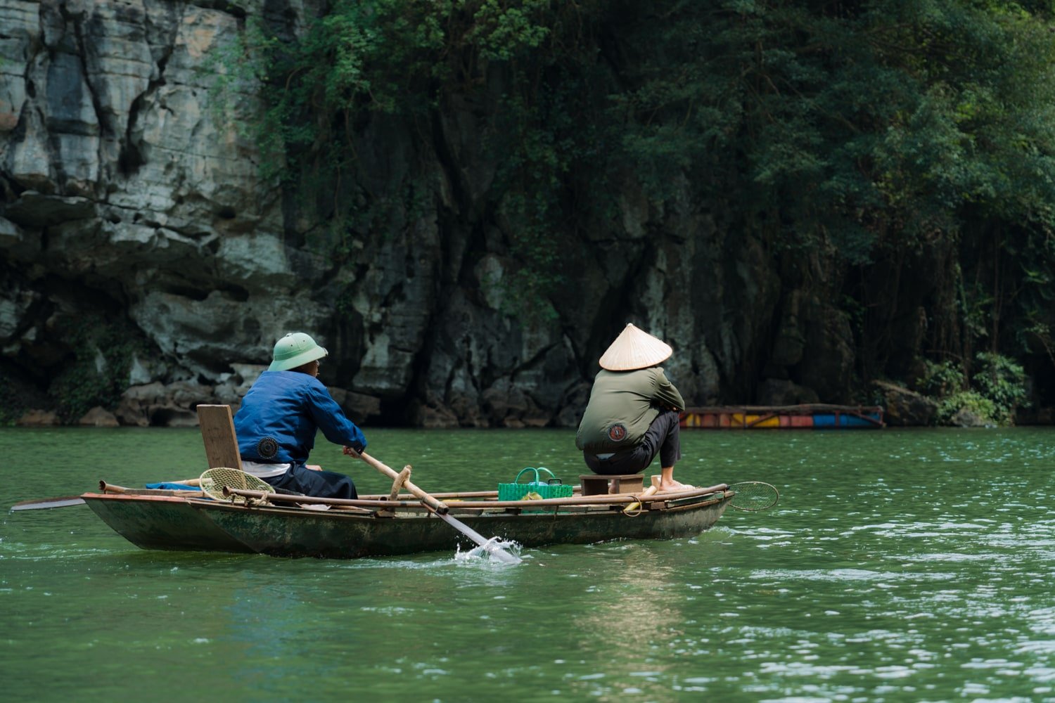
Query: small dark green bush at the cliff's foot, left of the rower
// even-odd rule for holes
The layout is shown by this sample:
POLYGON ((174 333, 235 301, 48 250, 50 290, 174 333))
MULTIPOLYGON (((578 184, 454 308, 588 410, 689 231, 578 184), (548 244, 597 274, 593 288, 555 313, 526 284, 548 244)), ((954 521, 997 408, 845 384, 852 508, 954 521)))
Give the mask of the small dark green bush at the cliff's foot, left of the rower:
POLYGON ((49 388, 62 422, 76 422, 95 406, 117 407, 128 388, 132 359, 146 349, 130 327, 101 315, 81 317, 71 325, 66 340, 73 359, 49 388))

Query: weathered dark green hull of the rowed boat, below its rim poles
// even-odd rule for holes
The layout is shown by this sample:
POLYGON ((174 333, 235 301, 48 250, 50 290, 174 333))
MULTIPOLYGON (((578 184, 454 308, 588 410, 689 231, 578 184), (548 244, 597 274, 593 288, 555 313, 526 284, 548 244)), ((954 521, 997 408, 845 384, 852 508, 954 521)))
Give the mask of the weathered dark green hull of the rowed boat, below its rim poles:
MULTIPOLYGON (((145 549, 358 559, 476 546, 450 525, 422 510, 379 518, 347 510, 245 507, 142 495, 83 497, 110 527, 145 549)), ((612 507, 452 514, 484 536, 538 547, 694 536, 717 522, 730 500, 722 493, 636 514, 625 514, 612 507)))

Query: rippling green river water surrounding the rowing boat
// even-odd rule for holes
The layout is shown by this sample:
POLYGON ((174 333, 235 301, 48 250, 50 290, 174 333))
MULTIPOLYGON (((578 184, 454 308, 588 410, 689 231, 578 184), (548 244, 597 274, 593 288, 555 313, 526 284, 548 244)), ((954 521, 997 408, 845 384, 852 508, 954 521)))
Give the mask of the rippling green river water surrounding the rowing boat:
MULTIPOLYGON (((368 430, 430 491, 586 472, 567 430, 368 430)), ((698 538, 357 561, 143 551, 4 512, 4 701, 1055 701, 1055 430, 686 430, 775 485, 698 538)), ((196 430, 0 429, 4 509, 200 472, 196 430)), ((322 443, 361 492, 390 481, 322 443)), ((628 518, 629 520, 630 518, 628 518)))

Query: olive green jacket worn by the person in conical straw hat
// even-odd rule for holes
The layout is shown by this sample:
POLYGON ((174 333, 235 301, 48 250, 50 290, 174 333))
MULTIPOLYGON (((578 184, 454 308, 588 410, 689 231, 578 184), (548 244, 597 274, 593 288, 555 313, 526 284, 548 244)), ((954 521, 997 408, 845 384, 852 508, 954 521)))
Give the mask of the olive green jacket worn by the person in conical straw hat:
POLYGON ((601 370, 594 378, 575 446, 591 454, 633 449, 664 409, 685 410, 685 401, 659 367, 601 370))

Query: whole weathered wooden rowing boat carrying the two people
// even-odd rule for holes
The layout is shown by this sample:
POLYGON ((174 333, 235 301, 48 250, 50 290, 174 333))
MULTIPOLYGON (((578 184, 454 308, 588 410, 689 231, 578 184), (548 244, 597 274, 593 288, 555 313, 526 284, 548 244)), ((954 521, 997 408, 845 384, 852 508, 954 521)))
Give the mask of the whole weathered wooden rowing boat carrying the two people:
MULTIPOLYGON (((231 500, 219 501, 197 491, 100 485, 101 492, 80 497, 143 549, 357 559, 476 546, 407 494, 338 501, 231 489, 231 500)), ((496 491, 434 495, 480 534, 538 547, 694 536, 717 522, 734 492, 721 484, 536 501, 498 501, 496 491)))

